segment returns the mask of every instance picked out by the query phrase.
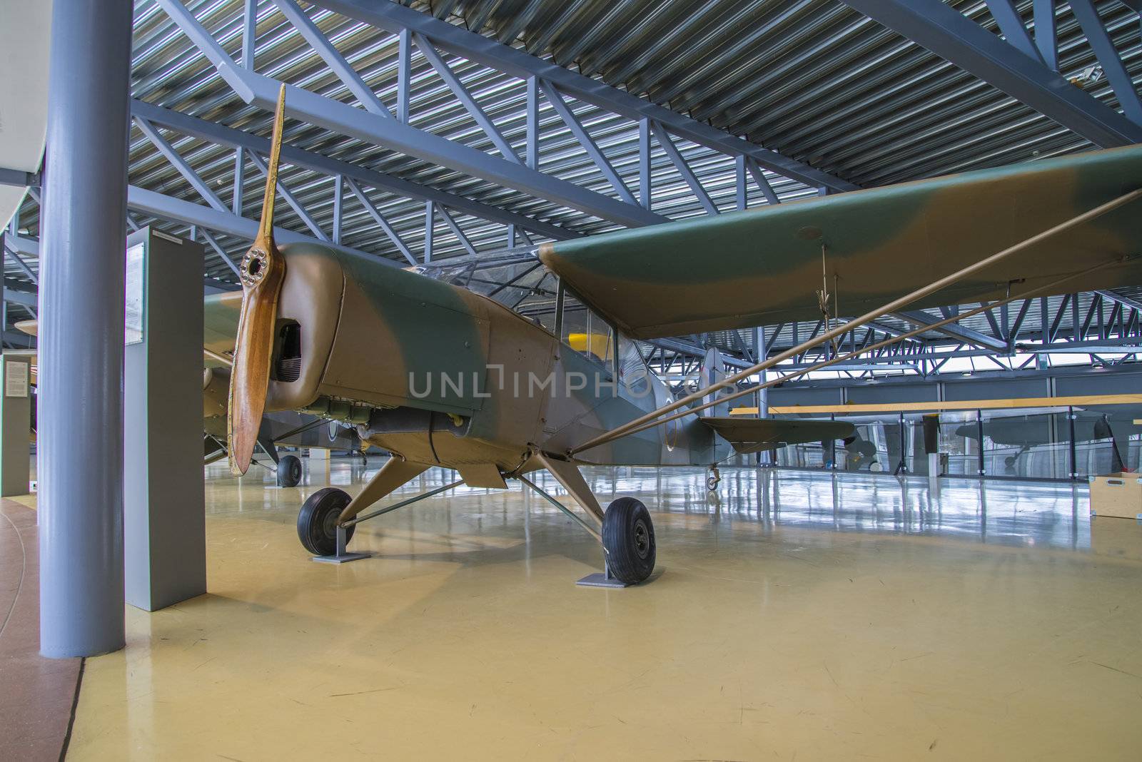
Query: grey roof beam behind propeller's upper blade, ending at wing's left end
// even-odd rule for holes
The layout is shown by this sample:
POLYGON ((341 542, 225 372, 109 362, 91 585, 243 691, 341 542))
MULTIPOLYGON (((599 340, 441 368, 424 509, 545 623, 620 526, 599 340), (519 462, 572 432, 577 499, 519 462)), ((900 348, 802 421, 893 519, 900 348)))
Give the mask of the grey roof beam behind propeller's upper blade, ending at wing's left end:
MULTIPOLYGON (((190 116, 188 114, 163 108, 162 106, 155 106, 154 104, 143 100, 131 100, 131 114, 146 119, 153 124, 161 124, 183 135, 190 135, 196 138, 202 138, 203 140, 210 140, 211 143, 217 143, 218 145, 231 146, 233 148, 257 152, 260 154, 270 153, 270 140, 267 138, 243 132, 242 130, 235 130, 232 127, 223 127, 222 124, 217 124, 215 122, 208 122, 196 116, 190 116)), ((516 225, 548 238, 555 238, 556 241, 564 241, 579 235, 573 230, 564 229, 557 225, 533 220, 530 217, 517 214, 515 212, 508 212, 499 209, 498 206, 490 206, 478 201, 472 201, 471 198, 465 198, 464 196, 457 196, 444 190, 437 190, 416 183, 410 183, 409 180, 402 180, 393 177, 392 175, 376 172, 355 164, 323 156, 322 154, 301 151, 300 148, 296 148, 293 146, 282 146, 282 161, 288 164, 304 167, 325 175, 344 175, 345 177, 352 178, 360 184, 377 188, 378 190, 385 190, 386 193, 393 193, 399 196, 417 198, 419 201, 436 201, 457 211, 463 211, 492 222, 516 225)))

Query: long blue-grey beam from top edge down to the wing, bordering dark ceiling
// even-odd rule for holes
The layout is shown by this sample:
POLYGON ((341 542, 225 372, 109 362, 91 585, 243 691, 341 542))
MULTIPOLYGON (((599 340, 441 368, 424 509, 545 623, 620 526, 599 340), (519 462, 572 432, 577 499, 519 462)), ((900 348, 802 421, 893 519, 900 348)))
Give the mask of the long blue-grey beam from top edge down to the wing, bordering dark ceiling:
POLYGON ((763 148, 705 122, 652 104, 605 82, 584 76, 523 50, 433 18, 419 10, 405 8, 400 3, 371 2, 370 0, 315 0, 314 5, 371 24, 393 34, 399 34, 404 29, 418 32, 428 38, 441 50, 448 50, 522 80, 538 76, 577 100, 606 108, 635 121, 644 117, 654 120, 679 138, 731 156, 745 154, 756 160, 765 169, 814 188, 827 186, 834 190, 854 190, 858 187, 847 180, 842 180, 809 164, 782 156, 775 151, 763 148))

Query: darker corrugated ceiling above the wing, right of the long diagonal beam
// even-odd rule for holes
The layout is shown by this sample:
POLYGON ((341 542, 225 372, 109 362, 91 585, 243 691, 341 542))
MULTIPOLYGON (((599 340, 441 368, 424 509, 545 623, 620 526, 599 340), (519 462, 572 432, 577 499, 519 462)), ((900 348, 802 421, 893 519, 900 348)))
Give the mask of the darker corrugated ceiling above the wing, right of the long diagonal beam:
MULTIPOLYGON (((984 2, 949 5, 996 31, 984 2)), ((1031 1, 1018 6, 1030 25, 1031 1)), ((1139 18, 1097 3, 1135 81, 1139 18)), ((838 0, 459 0, 412 7, 644 96, 859 185, 1089 144, 838 0)), ((1096 63, 1059 3, 1060 71, 1096 63)), ((1087 86, 1117 102, 1105 79, 1087 86)))

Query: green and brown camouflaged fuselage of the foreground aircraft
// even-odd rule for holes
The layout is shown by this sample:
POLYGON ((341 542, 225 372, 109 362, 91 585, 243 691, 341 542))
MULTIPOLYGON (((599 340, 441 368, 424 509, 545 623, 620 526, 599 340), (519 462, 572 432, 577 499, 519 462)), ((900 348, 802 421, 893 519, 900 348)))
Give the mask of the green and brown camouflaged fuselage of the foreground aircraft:
MULTIPOLYGON (((363 440, 418 463, 513 471, 537 449, 565 452, 670 399, 641 357, 576 351, 460 286, 322 246, 283 254, 270 411, 351 421, 363 440)), ((711 464, 726 454, 687 416, 579 460, 711 464)))

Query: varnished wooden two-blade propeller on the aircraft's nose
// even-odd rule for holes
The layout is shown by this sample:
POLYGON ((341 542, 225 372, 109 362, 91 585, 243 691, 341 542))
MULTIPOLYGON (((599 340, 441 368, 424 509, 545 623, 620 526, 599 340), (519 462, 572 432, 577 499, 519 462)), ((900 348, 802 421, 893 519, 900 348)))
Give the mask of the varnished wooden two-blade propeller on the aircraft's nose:
POLYGON ((278 94, 274 137, 270 145, 266 195, 262 202, 258 237, 239 267, 242 279, 242 310, 238 321, 234 366, 230 374, 230 407, 226 438, 230 470, 242 476, 250 468, 258 429, 270 390, 270 363, 274 351, 278 298, 286 279, 286 259, 274 245, 274 196, 278 190, 278 160, 286 116, 286 86, 278 94))

